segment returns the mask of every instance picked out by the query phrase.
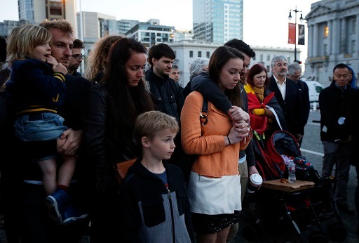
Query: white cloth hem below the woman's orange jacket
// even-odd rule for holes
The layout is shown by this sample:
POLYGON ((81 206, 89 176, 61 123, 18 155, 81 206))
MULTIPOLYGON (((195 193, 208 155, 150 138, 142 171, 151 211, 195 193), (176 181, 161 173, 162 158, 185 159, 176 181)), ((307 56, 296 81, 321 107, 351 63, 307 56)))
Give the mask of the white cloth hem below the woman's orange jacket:
POLYGON ((192 213, 233 214, 242 210, 240 175, 209 178, 191 171, 187 187, 192 213))

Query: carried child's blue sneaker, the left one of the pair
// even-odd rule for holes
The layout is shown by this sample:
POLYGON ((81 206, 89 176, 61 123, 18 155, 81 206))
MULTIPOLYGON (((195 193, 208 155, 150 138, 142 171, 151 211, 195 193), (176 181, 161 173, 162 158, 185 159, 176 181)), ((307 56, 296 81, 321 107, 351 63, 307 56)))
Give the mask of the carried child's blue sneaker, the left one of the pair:
POLYGON ((62 215, 69 201, 69 195, 64 190, 58 189, 45 198, 45 206, 48 209, 48 216, 53 223, 62 224, 62 215))

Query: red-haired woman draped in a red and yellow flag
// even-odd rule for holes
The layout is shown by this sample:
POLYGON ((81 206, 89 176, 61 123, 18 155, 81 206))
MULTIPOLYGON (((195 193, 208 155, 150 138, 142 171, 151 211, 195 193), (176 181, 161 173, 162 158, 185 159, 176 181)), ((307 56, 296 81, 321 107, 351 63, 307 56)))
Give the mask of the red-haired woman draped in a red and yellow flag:
POLYGON ((248 113, 252 130, 262 139, 269 138, 274 131, 286 130, 283 110, 274 92, 266 87, 269 83, 266 68, 260 64, 253 65, 247 73, 246 81, 244 87, 248 93, 248 113))

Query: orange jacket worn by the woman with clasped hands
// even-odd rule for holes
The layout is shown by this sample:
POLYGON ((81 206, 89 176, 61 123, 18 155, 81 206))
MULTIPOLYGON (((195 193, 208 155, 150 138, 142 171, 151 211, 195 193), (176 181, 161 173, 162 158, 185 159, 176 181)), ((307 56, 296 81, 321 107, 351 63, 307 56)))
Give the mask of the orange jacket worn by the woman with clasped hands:
POLYGON ((225 146, 225 136, 232 127, 229 115, 217 110, 208 102, 208 123, 203 126, 199 114, 203 106, 203 96, 194 91, 187 96, 181 112, 181 139, 184 152, 189 155, 200 155, 194 162, 191 171, 203 176, 221 177, 238 174, 239 150, 245 150, 252 133, 244 143, 225 146))

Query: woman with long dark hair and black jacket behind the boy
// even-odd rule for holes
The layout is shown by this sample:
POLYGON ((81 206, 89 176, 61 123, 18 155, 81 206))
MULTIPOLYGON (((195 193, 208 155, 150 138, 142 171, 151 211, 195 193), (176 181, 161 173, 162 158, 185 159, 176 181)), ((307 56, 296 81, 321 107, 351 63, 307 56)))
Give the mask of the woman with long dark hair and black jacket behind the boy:
POLYGON ((95 168, 90 242, 121 242, 120 188, 114 166, 140 156, 133 137, 135 120, 154 110, 143 79, 146 53, 135 39, 116 41, 104 77, 90 91, 84 129, 88 159, 95 168))

